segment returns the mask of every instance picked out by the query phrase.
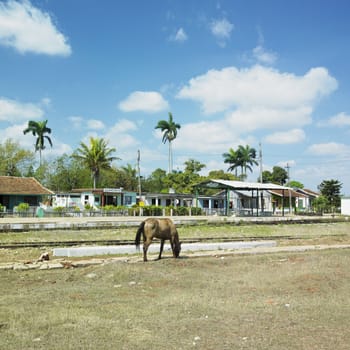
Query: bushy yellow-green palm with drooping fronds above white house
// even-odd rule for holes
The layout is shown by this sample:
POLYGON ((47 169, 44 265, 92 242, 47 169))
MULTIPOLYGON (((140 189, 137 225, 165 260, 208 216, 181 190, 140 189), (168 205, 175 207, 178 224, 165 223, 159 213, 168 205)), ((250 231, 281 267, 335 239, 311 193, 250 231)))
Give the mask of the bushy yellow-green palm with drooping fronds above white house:
POLYGON ((73 157, 80 159, 90 170, 93 178, 93 186, 96 184, 102 169, 110 169, 111 162, 120 158, 111 156, 115 148, 109 148, 108 142, 103 138, 90 137, 90 145, 80 143, 80 148, 73 154, 73 157))

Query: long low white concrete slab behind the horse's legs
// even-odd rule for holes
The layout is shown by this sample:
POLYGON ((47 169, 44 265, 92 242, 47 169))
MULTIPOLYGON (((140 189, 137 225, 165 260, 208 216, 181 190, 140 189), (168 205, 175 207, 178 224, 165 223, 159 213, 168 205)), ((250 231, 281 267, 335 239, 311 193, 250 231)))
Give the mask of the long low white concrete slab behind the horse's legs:
MULTIPOLYGON (((211 250, 236 250, 251 249, 259 247, 275 247, 275 241, 251 241, 251 242, 217 242, 217 243, 182 243, 181 252, 186 251, 211 251, 211 250)), ((148 251, 150 253, 159 252, 159 243, 152 243, 148 251)), ((142 251, 142 244, 140 246, 142 251)), ((95 247, 72 247, 72 248, 55 248, 54 256, 64 257, 82 257, 96 255, 114 255, 114 254, 136 254, 139 253, 134 245, 123 246, 95 246, 95 247)), ((171 254, 170 244, 164 245, 164 253, 171 254)))

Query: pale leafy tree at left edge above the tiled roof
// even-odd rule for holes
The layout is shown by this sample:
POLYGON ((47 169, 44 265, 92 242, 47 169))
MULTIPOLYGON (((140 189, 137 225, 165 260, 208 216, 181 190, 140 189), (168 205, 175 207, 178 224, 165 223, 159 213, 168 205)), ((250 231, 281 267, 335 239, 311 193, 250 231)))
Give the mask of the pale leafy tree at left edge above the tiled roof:
POLYGON ((21 148, 17 141, 6 139, 0 144, 0 175, 25 176, 33 163, 33 152, 21 148))

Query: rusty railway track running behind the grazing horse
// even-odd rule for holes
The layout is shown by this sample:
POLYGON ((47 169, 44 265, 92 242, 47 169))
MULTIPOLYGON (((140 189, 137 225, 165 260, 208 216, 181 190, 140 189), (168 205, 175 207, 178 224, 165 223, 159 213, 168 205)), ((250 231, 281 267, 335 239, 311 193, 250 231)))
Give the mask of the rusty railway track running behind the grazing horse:
MULTIPOLYGON (((330 235, 337 236, 339 235, 330 235)), ((249 236, 249 237, 203 237, 203 238, 183 238, 183 243, 201 243, 201 242, 237 242, 237 241, 263 241, 263 240, 297 240, 314 239, 315 237, 305 236, 249 236)), ((41 247, 74 247, 74 246, 106 246, 106 245, 133 245, 133 240, 113 239, 113 240, 86 240, 86 241, 56 241, 56 242, 6 242, 0 243, 0 249, 19 249, 19 248, 41 248, 41 247)))

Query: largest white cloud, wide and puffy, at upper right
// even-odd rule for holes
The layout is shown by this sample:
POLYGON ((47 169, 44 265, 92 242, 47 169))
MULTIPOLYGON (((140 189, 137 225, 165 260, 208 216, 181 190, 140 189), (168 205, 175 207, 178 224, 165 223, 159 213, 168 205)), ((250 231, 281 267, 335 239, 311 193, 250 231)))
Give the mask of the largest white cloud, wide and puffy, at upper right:
POLYGON ((304 76, 259 65, 246 69, 227 67, 192 78, 177 97, 199 102, 207 114, 234 107, 311 108, 337 86, 322 67, 310 69, 304 76))

